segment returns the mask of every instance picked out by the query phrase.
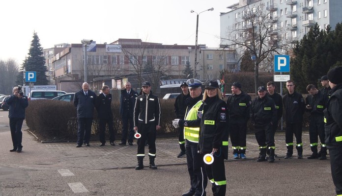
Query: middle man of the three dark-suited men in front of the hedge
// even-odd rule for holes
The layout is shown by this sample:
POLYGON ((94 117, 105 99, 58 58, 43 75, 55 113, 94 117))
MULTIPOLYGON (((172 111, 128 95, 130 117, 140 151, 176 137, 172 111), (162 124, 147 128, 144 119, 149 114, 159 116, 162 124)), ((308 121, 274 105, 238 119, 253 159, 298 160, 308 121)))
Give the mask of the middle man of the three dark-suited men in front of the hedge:
POLYGON ((102 93, 97 96, 95 101, 95 108, 97 110, 97 117, 99 119, 100 124, 100 147, 105 146, 106 138, 105 138, 105 131, 106 131, 106 124, 108 124, 109 129, 109 142, 112 146, 115 146, 114 140, 114 129, 113 129, 113 113, 111 108, 112 103, 112 94, 110 94, 109 86, 104 85, 102 87, 102 93))

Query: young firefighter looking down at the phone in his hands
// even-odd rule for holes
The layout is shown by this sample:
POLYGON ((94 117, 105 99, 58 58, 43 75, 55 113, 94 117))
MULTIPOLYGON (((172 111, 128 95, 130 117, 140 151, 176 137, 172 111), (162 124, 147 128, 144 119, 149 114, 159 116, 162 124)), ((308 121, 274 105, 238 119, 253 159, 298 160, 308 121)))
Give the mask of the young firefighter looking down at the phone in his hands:
POLYGON ((306 109, 310 112, 309 119, 309 135, 310 135, 310 147, 313 152, 308 159, 325 160, 327 159, 327 147, 324 142, 324 113, 323 110, 326 108, 328 97, 322 94, 313 84, 307 86, 307 91, 310 95, 306 98, 306 109), (321 142, 321 150, 318 155, 318 137, 321 142))

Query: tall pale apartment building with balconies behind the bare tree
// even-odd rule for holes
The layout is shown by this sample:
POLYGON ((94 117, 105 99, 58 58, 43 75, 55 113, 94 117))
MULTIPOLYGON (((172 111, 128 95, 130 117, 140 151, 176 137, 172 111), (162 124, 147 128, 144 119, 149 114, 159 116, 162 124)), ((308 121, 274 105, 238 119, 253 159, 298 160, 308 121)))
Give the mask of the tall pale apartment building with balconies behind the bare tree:
MULTIPOLYGON (((227 36, 229 28, 240 24, 247 26, 249 22, 245 13, 260 7, 280 30, 278 36, 293 43, 300 41, 315 23, 321 29, 327 25, 334 29, 342 19, 342 0, 240 0, 227 7, 230 11, 221 13, 221 37, 227 36)), ((222 39, 222 44, 229 45, 225 39, 222 39)))

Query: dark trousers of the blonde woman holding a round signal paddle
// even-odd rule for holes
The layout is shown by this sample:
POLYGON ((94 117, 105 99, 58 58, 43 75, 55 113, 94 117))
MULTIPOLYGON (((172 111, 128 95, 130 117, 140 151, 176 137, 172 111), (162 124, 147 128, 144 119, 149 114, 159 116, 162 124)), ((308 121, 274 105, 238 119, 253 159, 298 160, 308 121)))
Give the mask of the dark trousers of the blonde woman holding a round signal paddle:
POLYGON ((225 172, 224 156, 221 148, 214 153, 214 162, 211 165, 205 164, 205 171, 212 183, 212 191, 214 196, 225 196, 227 181, 225 172))

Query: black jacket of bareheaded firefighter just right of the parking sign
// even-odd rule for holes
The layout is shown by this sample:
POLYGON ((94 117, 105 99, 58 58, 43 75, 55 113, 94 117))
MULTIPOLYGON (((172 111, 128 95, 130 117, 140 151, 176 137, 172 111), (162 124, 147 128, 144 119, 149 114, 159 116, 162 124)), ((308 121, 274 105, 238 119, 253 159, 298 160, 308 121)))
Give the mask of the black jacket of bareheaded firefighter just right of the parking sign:
POLYGON ((286 94, 283 97, 285 108, 286 123, 301 123, 303 122, 303 114, 305 112, 305 103, 303 96, 297 92, 292 95, 286 94))

